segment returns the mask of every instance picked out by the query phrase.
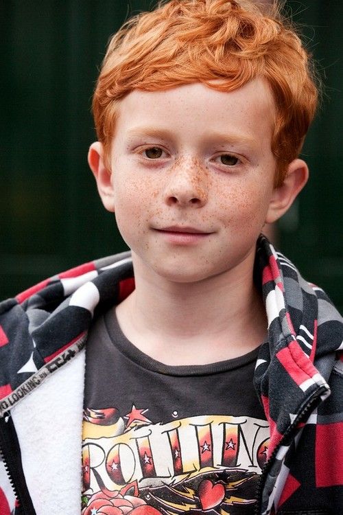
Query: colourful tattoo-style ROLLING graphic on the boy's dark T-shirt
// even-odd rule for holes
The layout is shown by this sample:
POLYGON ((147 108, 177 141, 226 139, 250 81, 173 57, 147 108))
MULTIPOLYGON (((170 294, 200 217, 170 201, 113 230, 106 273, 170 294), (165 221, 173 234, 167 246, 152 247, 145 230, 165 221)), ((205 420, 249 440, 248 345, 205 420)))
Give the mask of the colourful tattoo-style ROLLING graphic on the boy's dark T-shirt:
POLYGON ((226 515, 255 503, 268 423, 226 415, 178 419, 177 411, 171 419, 152 422, 148 409, 134 405, 123 416, 116 408, 86 409, 82 515, 226 515))

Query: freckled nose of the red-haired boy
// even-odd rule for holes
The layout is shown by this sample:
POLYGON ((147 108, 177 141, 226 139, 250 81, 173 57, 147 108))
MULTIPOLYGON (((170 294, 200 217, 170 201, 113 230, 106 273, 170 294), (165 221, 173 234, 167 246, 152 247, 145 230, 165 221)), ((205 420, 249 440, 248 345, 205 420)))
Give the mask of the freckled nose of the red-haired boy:
POLYGON ((169 170, 165 186, 167 205, 202 207, 208 199, 208 171, 196 159, 179 160, 169 170))

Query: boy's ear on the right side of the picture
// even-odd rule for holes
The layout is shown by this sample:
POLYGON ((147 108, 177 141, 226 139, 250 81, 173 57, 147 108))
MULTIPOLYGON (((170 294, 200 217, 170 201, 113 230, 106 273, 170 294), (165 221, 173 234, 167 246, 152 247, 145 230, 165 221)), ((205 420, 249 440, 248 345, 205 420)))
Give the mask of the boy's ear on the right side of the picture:
POLYGON ((291 207, 298 193, 303 190, 309 178, 309 169, 303 159, 294 159, 289 163, 285 179, 281 186, 275 187, 270 200, 266 223, 276 222, 291 207))

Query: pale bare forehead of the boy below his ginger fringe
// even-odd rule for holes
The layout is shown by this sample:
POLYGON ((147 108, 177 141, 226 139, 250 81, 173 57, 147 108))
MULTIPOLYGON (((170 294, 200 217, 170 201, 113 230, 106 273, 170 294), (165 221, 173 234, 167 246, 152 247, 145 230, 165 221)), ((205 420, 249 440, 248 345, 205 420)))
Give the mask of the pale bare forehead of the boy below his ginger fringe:
POLYGON ((242 137, 272 137, 275 108, 268 83, 255 79, 233 91, 218 91, 200 82, 164 91, 134 90, 119 103, 117 130, 177 130, 196 133, 237 133, 242 137))

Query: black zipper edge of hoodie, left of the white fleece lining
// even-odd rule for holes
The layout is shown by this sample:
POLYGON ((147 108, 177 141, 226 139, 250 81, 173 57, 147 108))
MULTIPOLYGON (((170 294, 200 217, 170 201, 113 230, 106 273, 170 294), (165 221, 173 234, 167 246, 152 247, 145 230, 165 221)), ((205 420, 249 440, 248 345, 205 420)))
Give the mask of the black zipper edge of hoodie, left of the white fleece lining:
POLYGON ((15 514, 36 515, 29 491, 24 477, 21 464, 21 451, 18 437, 14 429, 12 417, 5 415, 0 419, 0 454, 3 459, 5 470, 10 479, 12 489, 19 507, 16 507, 15 514))

